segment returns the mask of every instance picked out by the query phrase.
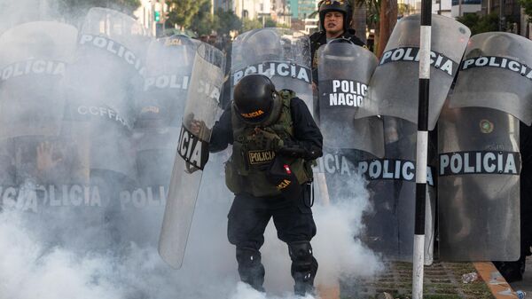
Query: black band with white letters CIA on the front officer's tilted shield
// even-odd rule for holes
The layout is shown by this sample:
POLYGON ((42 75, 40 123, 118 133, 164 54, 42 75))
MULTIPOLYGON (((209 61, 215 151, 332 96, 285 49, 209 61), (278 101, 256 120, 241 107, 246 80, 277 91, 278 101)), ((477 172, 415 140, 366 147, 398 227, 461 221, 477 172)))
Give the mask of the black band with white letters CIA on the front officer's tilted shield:
POLYGON ((208 160, 208 143, 181 126, 177 153, 193 167, 203 170, 208 160))

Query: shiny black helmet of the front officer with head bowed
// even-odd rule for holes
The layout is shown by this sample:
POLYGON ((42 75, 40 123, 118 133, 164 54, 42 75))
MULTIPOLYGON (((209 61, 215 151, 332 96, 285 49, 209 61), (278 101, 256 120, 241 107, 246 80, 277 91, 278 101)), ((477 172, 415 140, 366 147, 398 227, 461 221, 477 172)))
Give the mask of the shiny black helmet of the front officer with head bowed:
POLYGON ((276 98, 275 86, 267 76, 251 74, 237 83, 233 101, 242 121, 258 124, 268 118, 276 98))

